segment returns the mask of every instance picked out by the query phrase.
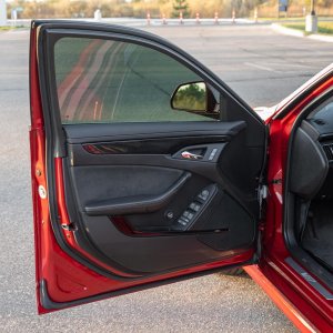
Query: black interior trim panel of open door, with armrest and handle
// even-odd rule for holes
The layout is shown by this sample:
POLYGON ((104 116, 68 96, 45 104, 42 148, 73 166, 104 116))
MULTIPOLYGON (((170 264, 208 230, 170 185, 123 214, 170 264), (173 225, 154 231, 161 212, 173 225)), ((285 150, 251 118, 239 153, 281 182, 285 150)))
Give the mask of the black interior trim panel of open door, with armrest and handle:
MULTIPOLYGON (((225 147, 243 135, 245 123, 195 125, 190 138, 186 123, 173 123, 172 128, 159 124, 158 132, 159 127, 144 123, 109 124, 103 127, 103 134, 99 124, 85 124, 87 138, 77 133, 78 125, 64 125, 69 188, 78 203, 78 214, 71 220, 82 223, 75 231, 80 246, 88 252, 94 248, 91 253, 100 253, 101 261, 110 265, 115 262, 135 274, 175 270, 229 256, 230 250, 251 248, 255 238, 253 215, 225 191, 219 171, 225 147), (119 128, 127 140, 118 141, 119 128), (210 135, 203 137, 204 131, 210 135), (144 139, 137 139, 143 132, 144 139), (102 143, 93 140, 99 134, 102 143), (188 145, 193 143, 198 144, 188 145), (180 154, 191 150, 204 151, 203 158, 188 160, 180 154), (204 190, 211 192, 208 202, 199 198, 204 190), (190 209, 191 203, 200 205, 198 212, 190 209), (186 211, 193 218, 184 226, 179 220, 186 211)), ((229 159, 228 152, 223 159, 229 159)))

